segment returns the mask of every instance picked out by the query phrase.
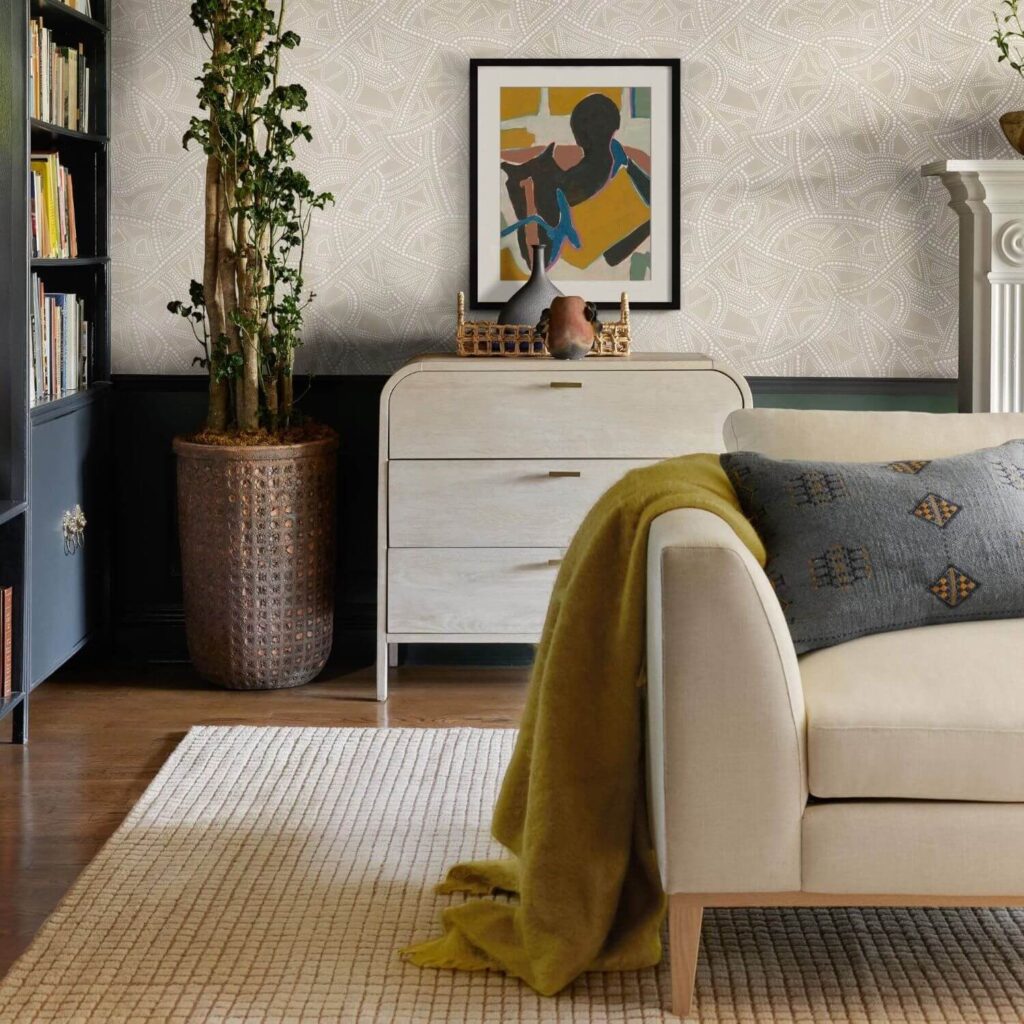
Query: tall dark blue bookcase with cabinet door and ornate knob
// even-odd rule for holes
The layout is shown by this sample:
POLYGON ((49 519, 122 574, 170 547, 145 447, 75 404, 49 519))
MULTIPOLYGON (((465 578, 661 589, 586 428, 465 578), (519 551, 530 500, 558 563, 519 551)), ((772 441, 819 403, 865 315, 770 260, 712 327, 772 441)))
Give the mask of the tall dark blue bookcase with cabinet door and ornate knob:
MULTIPOLYGON (((12 75, 14 82, 6 93, 7 102, 0 102, 0 138, 4 140, 0 146, 0 260, 4 266, 0 273, 0 495, 5 496, 0 499, 0 586, 12 587, 14 597, 14 693, 0 697, 0 719, 9 718, 14 742, 28 738, 33 688, 101 635, 105 625, 111 261, 100 254, 110 252, 111 238, 112 2, 91 0, 90 16, 60 0, 0 0, 0 52, 9 69, 8 79, 12 75), (45 35, 33 26, 40 19, 45 35), (38 56, 41 38, 51 54, 45 65, 38 56), (84 55, 90 75, 85 93, 90 132, 32 117, 32 90, 52 74, 53 61, 69 60, 75 67, 73 53, 84 55), (66 182, 73 180, 75 202, 68 201, 67 213, 60 214, 60 245, 51 243, 43 251, 75 251, 69 245, 74 238, 77 251, 85 255, 33 259, 30 239, 39 244, 33 227, 39 220, 33 221, 28 199, 30 194, 40 195, 42 182, 45 188, 51 187, 39 162, 54 154, 61 173, 69 176, 57 178, 59 187, 66 188, 66 182), (32 155, 36 155, 35 168, 30 168, 32 155), (67 219, 72 210, 74 236, 67 219), (51 305, 57 310, 52 316, 51 305), (45 315, 34 315, 40 309, 45 315), (79 360, 88 368, 88 388, 33 402, 34 386, 55 386, 49 377, 54 368, 60 376, 53 380, 74 383, 74 373, 68 368, 77 370, 82 365, 79 360), (61 516, 76 506, 87 517, 90 538, 81 550, 69 553, 62 544, 61 516)), ((57 78, 57 83, 61 81, 73 90, 72 83, 83 79, 57 78)), ((59 86, 47 95, 60 102, 59 86)), ((65 104, 73 99, 74 92, 66 90, 65 104)), ((70 123, 75 123, 74 118, 70 123)), ((67 195, 58 190, 57 196, 58 209, 65 211, 67 195)))

